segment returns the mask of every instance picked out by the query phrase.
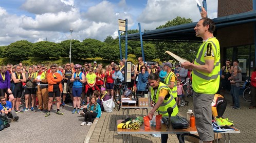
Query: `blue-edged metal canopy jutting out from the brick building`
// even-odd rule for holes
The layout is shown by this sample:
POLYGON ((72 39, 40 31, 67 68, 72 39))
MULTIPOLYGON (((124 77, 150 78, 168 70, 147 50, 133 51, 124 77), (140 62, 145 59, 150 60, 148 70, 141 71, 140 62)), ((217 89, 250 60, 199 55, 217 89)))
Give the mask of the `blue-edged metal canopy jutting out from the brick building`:
MULTIPOLYGON (((220 28, 240 25, 256 21, 256 11, 249 11, 224 17, 214 18, 217 31, 220 28)), ((197 22, 187 23, 162 29, 142 32, 143 41, 173 41, 173 42, 201 42, 202 38, 195 36, 194 27, 197 22)), ((139 33, 127 35, 128 40, 140 40, 139 33)), ((121 36, 125 39, 125 35, 121 36)))

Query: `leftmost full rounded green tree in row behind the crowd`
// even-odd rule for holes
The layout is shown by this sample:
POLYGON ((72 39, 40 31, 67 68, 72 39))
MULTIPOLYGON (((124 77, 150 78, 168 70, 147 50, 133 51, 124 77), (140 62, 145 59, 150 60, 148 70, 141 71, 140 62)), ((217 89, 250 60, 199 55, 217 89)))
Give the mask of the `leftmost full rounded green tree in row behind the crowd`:
POLYGON ((5 48, 5 56, 14 61, 22 61, 28 59, 28 57, 32 54, 32 45, 33 44, 31 42, 26 40, 11 43, 5 48))

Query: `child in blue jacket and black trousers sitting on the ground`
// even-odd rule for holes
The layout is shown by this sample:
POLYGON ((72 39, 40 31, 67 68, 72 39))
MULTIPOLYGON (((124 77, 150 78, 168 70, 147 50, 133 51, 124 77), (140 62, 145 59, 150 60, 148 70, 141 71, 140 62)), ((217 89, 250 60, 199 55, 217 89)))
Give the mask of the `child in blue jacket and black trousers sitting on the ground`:
POLYGON ((99 120, 101 116, 100 105, 96 102, 97 98, 95 96, 90 98, 90 102, 87 105, 87 112, 84 113, 84 122, 81 123, 81 126, 91 126, 93 123, 93 118, 99 120), (87 120, 88 118, 88 120, 87 120))

